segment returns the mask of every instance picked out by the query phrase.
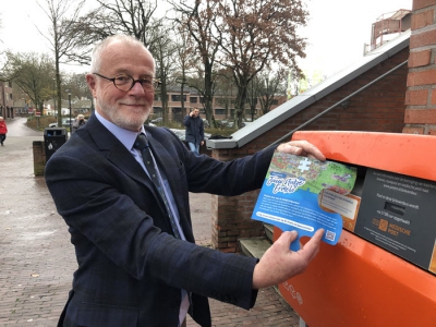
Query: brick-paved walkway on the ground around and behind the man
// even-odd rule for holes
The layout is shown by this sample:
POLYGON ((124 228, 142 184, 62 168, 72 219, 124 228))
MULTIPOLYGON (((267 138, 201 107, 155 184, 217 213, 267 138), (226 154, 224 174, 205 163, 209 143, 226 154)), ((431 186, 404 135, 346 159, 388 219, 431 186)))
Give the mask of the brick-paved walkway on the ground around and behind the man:
MULTIPOLYGON (((44 178, 33 170, 33 141, 41 132, 8 121, 0 147, 0 326, 56 326, 76 268, 74 249, 44 178)), ((210 243, 210 201, 191 194, 194 234, 210 243)), ((251 311, 210 300, 213 326, 299 326, 299 317, 272 288, 259 291, 251 311)), ((189 327, 198 326, 191 318, 189 327)))

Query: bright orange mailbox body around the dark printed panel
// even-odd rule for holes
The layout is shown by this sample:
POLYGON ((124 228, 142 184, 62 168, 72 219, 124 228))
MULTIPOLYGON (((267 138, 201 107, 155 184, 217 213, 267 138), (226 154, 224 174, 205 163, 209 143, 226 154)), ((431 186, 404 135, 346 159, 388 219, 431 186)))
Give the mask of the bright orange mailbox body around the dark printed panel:
MULTIPOLYGON (((313 143, 327 159, 436 181, 434 136, 298 132, 292 140, 313 143)), ((280 233, 275 228, 274 239, 280 233)), ((436 326, 436 276, 347 230, 279 289, 310 327, 436 326)))

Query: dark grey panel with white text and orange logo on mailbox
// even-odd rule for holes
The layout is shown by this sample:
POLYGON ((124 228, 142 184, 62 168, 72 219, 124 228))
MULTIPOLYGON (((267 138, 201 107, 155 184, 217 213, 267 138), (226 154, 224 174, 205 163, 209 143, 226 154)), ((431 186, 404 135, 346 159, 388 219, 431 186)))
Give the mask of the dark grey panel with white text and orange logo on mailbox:
POLYGON ((436 274, 436 182, 368 169, 354 232, 436 274))

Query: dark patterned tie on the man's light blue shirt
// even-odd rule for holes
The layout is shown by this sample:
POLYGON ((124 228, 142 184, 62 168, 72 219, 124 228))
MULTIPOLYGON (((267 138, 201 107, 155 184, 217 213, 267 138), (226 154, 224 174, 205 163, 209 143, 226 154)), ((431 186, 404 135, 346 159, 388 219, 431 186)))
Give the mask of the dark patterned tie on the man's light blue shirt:
POLYGON ((147 169, 152 182, 155 185, 158 193, 160 194, 160 198, 162 199, 165 207, 167 208, 167 214, 171 222, 172 232, 175 238, 180 239, 179 229, 175 223, 175 217, 172 215, 171 208, 168 203, 168 198, 165 194, 164 185, 161 183, 160 175, 157 171, 157 167, 155 165, 155 160, 152 155, 152 148, 147 137, 144 134, 138 134, 133 147, 137 148, 141 152, 145 168, 147 169))

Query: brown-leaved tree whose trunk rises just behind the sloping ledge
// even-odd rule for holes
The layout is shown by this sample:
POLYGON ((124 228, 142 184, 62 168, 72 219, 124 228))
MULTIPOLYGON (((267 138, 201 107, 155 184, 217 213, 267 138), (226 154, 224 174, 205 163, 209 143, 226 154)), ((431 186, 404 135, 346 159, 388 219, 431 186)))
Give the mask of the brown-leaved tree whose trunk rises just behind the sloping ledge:
POLYGON ((274 64, 292 65, 305 57, 305 40, 296 28, 305 25, 307 12, 300 0, 210 0, 217 15, 217 61, 233 72, 238 88, 235 120, 241 126, 250 82, 274 64))

